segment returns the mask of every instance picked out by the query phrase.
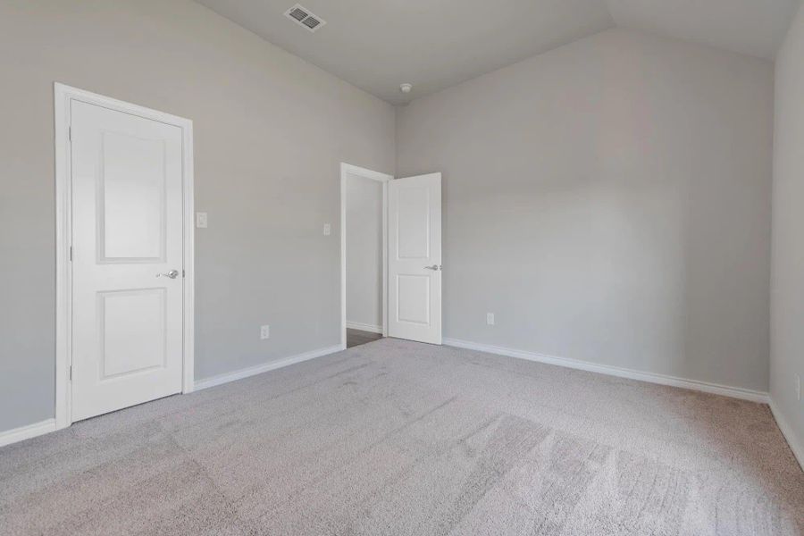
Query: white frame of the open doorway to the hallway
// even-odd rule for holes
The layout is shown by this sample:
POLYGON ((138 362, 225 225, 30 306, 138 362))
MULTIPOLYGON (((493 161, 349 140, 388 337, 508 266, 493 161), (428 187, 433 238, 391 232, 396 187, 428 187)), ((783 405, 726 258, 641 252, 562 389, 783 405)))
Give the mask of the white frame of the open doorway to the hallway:
POLYGON ((346 181, 348 175, 382 183, 382 336, 388 337, 388 181, 392 175, 340 163, 340 346, 346 349, 346 181))

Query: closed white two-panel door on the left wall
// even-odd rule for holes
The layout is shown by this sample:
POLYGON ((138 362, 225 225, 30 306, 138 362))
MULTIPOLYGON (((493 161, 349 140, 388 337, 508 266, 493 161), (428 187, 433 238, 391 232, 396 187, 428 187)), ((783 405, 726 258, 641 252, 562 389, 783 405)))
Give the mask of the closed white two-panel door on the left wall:
POLYGON ((73 421, 181 390, 181 139, 72 101, 73 421))

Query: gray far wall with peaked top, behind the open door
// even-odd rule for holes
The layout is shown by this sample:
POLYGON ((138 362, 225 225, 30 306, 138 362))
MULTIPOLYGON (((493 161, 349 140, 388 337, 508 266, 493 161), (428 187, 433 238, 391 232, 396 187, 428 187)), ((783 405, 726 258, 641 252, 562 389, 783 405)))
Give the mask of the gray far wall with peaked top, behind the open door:
POLYGON ((444 336, 766 391, 773 69, 614 29, 398 107, 444 336))

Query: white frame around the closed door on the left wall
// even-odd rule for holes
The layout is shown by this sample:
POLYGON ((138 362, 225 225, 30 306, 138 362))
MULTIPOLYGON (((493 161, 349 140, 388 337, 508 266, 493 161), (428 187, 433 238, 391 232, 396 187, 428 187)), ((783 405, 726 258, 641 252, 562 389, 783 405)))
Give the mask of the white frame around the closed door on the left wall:
POLYGON ((55 212, 56 212, 56 352, 55 352, 55 422, 56 429, 72 423, 71 379, 72 363, 72 194, 71 194, 71 102, 80 101, 103 106, 121 113, 130 113, 153 121, 175 125, 181 129, 182 189, 184 214, 184 299, 183 299, 183 356, 181 392, 192 392, 195 364, 195 271, 193 270, 193 121, 132 105, 108 96, 83 89, 54 84, 55 127, 55 212))

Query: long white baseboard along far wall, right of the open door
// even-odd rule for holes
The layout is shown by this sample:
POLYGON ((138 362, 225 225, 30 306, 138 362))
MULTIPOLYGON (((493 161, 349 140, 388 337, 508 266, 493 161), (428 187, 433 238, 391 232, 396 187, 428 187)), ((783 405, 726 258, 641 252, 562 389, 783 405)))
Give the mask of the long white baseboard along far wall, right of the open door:
POLYGON ((630 380, 649 381, 650 383, 658 383, 660 385, 670 385, 673 387, 681 387, 683 389, 693 389, 703 391, 705 393, 723 395, 724 397, 741 398, 743 400, 750 400, 751 402, 759 402, 761 404, 767 404, 769 402, 766 392, 743 389, 741 387, 731 387, 728 385, 720 385, 718 383, 709 383, 708 381, 687 380, 684 378, 677 378, 675 376, 668 376, 666 374, 645 373, 642 371, 607 364, 594 364, 588 361, 581 361, 579 359, 545 356, 535 352, 496 347, 471 342, 468 340, 444 339, 444 344, 457 348, 466 348, 470 350, 488 352, 490 354, 498 354, 499 356, 518 357, 520 359, 527 359, 529 361, 536 361, 539 363, 557 364, 558 366, 588 371, 590 373, 607 374, 609 376, 628 378, 630 380))

